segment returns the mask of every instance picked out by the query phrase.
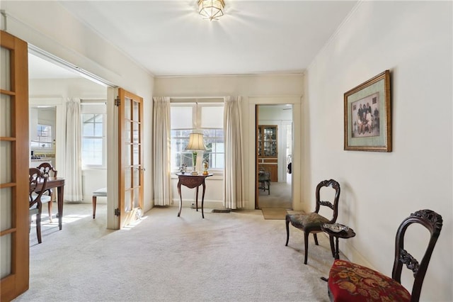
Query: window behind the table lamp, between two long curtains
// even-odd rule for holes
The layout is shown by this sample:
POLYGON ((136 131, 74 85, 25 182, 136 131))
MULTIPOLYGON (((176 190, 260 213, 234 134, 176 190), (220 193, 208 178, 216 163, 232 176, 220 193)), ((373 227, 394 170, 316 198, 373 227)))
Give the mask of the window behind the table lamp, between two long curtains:
POLYGON ((183 164, 192 169, 192 152, 185 147, 190 133, 194 132, 203 133, 206 150, 202 152, 201 162, 207 160, 209 169, 224 169, 223 103, 171 104, 170 121, 172 170, 183 164))

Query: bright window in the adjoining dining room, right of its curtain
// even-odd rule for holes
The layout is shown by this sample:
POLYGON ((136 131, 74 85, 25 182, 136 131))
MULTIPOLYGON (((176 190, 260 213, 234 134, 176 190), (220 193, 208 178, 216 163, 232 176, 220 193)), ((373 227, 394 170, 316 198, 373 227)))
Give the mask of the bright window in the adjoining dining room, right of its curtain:
POLYGON ((84 167, 106 167, 105 104, 82 103, 81 158, 84 167))

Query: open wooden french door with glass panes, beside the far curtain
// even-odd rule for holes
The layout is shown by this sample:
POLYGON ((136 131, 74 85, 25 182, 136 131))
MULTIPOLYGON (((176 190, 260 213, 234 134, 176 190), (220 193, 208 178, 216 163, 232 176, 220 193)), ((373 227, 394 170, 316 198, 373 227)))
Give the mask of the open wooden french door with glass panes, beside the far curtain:
POLYGON ((143 99, 118 89, 119 225, 128 225, 143 211, 143 99))

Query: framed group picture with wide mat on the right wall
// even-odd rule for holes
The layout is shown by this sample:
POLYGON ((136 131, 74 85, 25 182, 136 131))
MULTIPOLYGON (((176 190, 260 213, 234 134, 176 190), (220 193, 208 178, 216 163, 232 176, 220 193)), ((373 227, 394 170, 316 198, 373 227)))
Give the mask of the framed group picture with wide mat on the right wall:
POLYGON ((390 72, 345 93, 345 150, 391 152, 390 72))

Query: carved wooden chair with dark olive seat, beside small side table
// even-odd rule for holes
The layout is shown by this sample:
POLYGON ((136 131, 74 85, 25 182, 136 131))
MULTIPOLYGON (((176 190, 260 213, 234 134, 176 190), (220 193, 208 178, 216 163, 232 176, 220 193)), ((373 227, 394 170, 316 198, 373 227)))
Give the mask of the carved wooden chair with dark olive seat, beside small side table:
MULTIPOLYGON (((289 223, 291 223, 294 228, 299 228, 304 231, 304 244, 305 244, 305 258, 304 264, 306 264, 306 259, 308 256, 309 250, 309 234, 313 233, 314 242, 316 245, 318 244, 318 237, 316 233, 322 232, 321 225, 324 223, 335 223, 338 216, 338 199, 340 198, 340 184, 337 181, 330 179, 321 181, 316 186, 316 208, 314 212, 308 214, 287 214, 286 216, 286 246, 288 245, 289 240, 289 223), (331 201, 321 201, 320 199, 320 191, 322 188, 331 187, 335 190, 335 196, 333 198, 333 202, 331 201), (319 210, 321 206, 325 206, 326 208, 331 208, 332 210, 332 218, 329 220, 328 218, 321 216, 319 214, 319 210)), ((333 245, 333 237, 329 236, 329 240, 331 242, 331 250, 332 256, 335 257, 335 247, 333 245)))

